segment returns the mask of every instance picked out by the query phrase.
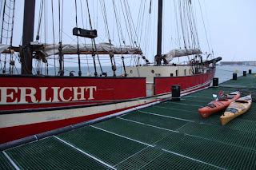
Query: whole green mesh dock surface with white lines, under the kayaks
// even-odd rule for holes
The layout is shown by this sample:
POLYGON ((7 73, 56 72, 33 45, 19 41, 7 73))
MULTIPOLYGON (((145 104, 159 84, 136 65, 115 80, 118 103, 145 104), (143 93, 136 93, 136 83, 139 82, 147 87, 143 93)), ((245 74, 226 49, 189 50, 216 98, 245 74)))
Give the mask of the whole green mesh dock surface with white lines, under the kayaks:
POLYGON ((223 112, 198 113, 220 90, 256 97, 255 88, 254 74, 247 74, 181 101, 10 148, 0 153, 0 169, 256 169, 255 102, 225 126, 223 112))

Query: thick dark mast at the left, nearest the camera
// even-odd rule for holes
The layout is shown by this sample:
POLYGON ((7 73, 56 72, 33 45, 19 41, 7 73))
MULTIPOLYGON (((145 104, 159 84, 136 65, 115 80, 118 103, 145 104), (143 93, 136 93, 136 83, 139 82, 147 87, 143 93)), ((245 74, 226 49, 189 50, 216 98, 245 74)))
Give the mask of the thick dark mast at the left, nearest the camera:
POLYGON ((22 74, 32 74, 32 53, 30 53, 30 42, 34 39, 34 6, 35 0, 25 0, 23 35, 22 35, 22 74))

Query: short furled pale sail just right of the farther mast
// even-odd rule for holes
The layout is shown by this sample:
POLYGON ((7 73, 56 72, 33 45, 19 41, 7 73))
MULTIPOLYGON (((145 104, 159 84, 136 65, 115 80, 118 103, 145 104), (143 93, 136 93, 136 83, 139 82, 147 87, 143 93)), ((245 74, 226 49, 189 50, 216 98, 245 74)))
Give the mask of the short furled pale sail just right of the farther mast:
POLYGON ((169 53, 166 53, 164 57, 167 63, 173 60, 174 57, 189 56, 202 53, 200 49, 172 49, 169 53))

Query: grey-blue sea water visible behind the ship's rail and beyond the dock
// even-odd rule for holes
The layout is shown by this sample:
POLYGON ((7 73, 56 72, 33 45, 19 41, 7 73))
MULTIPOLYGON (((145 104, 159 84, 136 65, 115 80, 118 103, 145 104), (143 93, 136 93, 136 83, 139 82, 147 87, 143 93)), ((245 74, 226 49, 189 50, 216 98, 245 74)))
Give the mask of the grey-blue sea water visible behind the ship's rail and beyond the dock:
MULTIPOLYGON (((97 67, 97 72, 101 73, 100 67, 97 67)), ((113 76, 113 71, 111 66, 102 66, 103 72, 106 72, 108 76, 113 76)), ((249 72, 249 69, 252 70, 252 73, 256 73, 256 66, 249 65, 223 65, 216 67, 215 77, 218 77, 218 82, 222 83, 223 81, 228 81, 232 79, 233 73, 238 73, 238 77, 242 76, 242 72, 249 72), (238 72, 235 72, 235 69, 238 69, 238 72)), ((74 76, 78 76, 78 67, 66 67, 65 68, 65 76, 69 76, 70 72, 74 71, 74 76)), ((94 67, 90 66, 89 71, 87 67, 82 67, 82 76, 87 76, 87 73, 91 73, 91 76, 94 76, 94 67)), ((56 73, 58 73, 58 69, 56 69, 56 73)), ((35 73, 34 73, 35 74, 35 73)), ((42 69, 42 74, 46 75, 46 69, 42 69)), ((48 68, 49 75, 55 75, 54 67, 48 68)), ((122 66, 119 66, 116 70, 116 75, 122 74, 122 66)))

